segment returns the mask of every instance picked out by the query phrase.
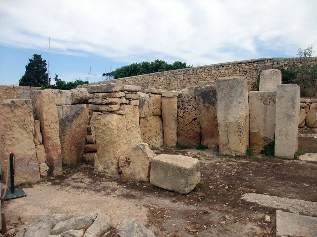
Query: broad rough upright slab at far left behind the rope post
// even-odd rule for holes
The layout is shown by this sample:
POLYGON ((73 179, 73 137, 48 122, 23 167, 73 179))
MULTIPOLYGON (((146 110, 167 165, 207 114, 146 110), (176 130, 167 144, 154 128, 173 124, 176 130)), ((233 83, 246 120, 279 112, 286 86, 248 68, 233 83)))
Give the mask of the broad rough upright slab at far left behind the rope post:
POLYGON ((15 185, 35 184, 40 181, 33 142, 34 120, 32 114, 31 100, 0 100, 1 170, 3 173, 7 170, 9 156, 12 152, 16 161, 15 185))

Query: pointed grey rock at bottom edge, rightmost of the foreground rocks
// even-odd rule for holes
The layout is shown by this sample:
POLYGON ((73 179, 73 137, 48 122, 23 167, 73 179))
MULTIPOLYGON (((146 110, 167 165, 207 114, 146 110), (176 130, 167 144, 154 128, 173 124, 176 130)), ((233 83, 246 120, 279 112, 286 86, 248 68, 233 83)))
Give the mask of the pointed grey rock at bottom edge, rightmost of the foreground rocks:
POLYGON ((123 221, 116 229, 121 237, 155 237, 136 217, 123 221))

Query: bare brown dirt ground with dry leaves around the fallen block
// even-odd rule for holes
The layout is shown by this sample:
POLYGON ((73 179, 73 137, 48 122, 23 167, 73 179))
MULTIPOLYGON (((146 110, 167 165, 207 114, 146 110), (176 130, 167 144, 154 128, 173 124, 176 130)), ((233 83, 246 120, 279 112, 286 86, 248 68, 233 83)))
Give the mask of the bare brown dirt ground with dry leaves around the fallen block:
MULTIPOLYGON (((309 129, 308 129, 309 130, 309 129)), ((314 130, 299 132, 299 153, 316 152, 314 130)), ((317 202, 317 162, 258 157, 217 156, 211 150, 162 148, 156 154, 180 154, 200 161, 201 184, 188 195, 94 173, 93 163, 64 169, 24 187, 27 197, 2 203, 13 234, 49 213, 104 212, 113 224, 138 217, 156 236, 275 236, 275 210, 240 200, 244 193, 317 202), (265 215, 271 222, 265 222, 265 215)), ((115 236, 114 234, 111 236, 115 236)))

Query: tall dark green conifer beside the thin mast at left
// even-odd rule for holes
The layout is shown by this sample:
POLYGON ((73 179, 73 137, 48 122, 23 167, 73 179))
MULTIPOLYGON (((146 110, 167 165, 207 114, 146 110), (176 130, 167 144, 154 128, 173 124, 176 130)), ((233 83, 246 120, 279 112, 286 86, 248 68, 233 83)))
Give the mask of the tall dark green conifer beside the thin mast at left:
POLYGON ((19 86, 40 87, 46 85, 49 76, 48 73, 46 73, 46 65, 46 60, 42 59, 42 55, 33 54, 33 58, 29 58, 29 63, 25 66, 25 74, 19 80, 19 86))

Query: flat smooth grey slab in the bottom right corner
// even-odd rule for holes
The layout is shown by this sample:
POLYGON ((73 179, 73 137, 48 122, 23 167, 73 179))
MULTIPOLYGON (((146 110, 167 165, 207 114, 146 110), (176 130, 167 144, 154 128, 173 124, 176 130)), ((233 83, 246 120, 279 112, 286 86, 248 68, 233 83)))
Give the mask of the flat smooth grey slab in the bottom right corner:
POLYGON ((276 210, 276 236, 315 237, 317 217, 276 210))

